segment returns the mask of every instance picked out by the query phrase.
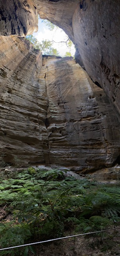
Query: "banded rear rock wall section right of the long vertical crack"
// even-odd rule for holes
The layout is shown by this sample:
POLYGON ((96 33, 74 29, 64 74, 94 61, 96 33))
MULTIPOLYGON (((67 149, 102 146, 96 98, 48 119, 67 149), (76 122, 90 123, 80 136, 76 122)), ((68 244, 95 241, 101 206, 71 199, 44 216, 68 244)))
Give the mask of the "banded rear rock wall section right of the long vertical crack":
POLYGON ((85 171, 113 163, 119 123, 105 93, 74 60, 44 59, 50 164, 85 171))

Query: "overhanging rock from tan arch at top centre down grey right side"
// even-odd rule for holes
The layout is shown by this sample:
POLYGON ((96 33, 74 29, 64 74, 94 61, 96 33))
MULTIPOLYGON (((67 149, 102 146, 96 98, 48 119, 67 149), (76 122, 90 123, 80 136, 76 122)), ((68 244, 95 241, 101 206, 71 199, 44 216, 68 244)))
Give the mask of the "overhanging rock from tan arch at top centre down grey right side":
POLYGON ((63 28, 77 47, 78 63, 100 84, 120 115, 120 2, 33 0, 41 18, 63 28))

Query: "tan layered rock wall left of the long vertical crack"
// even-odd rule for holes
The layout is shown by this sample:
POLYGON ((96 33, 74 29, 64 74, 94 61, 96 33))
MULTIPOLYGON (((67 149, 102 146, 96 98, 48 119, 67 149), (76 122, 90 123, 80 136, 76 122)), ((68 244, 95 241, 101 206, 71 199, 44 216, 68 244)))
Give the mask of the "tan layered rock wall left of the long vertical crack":
POLYGON ((42 93, 37 104, 42 55, 21 38, 2 36, 1 42, 0 155, 10 163, 44 162, 41 133, 46 100, 42 93))

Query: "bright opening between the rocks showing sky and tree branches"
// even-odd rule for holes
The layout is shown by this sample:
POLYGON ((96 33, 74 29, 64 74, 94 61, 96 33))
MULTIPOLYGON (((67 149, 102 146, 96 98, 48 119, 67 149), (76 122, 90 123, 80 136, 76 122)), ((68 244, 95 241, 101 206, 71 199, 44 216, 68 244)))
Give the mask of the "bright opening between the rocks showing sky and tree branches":
POLYGON ((55 55, 61 57, 74 57, 75 46, 67 34, 58 26, 48 20, 39 18, 38 31, 26 38, 43 55, 55 55))

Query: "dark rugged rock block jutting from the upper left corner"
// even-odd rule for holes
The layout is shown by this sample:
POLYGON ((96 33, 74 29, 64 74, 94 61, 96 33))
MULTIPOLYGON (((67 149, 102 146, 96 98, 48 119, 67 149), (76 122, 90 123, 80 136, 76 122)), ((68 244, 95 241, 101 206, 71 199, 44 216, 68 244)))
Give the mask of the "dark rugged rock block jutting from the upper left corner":
POLYGON ((0 1, 0 35, 26 36, 38 28, 38 14, 32 0, 0 1))

